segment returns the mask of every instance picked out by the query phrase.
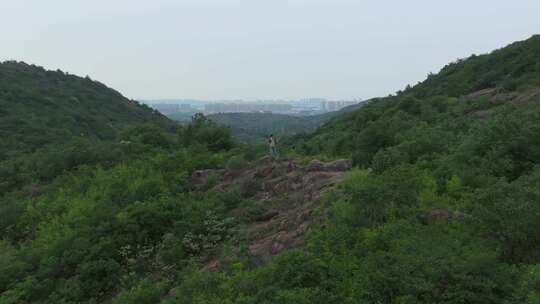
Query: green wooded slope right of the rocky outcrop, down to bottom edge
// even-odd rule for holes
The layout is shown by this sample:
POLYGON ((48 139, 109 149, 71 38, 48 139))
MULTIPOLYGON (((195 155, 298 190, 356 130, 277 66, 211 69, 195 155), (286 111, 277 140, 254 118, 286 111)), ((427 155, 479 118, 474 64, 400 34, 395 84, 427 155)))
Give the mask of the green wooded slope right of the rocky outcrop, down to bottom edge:
POLYGON ((166 303, 538 303, 539 44, 450 64, 292 138, 356 165, 306 247, 193 275, 166 303))

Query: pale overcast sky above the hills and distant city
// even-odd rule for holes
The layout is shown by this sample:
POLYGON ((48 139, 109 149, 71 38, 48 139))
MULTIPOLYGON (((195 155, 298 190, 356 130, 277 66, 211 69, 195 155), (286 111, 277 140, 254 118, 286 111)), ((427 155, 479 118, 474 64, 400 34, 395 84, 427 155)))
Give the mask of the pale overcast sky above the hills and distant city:
POLYGON ((540 0, 0 0, 0 60, 135 99, 388 95, 540 33, 540 0))

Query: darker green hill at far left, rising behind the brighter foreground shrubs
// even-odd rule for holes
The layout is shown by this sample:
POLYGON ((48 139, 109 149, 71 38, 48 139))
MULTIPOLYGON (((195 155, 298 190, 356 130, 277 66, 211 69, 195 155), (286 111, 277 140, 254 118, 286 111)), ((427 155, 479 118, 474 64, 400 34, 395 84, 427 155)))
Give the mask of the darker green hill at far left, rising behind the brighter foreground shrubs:
POLYGON ((164 116, 105 85, 22 62, 0 63, 0 156, 32 152, 71 137, 114 139, 141 123, 172 125, 164 116))

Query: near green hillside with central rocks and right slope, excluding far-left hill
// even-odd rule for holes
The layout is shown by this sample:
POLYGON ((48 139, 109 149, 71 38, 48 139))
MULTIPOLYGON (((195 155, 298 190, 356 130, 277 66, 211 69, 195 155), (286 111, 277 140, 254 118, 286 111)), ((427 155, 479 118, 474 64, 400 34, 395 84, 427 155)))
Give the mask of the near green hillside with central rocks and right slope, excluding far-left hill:
POLYGON ((0 303, 540 303, 539 62, 449 64, 296 159, 202 115, 8 159, 0 303))

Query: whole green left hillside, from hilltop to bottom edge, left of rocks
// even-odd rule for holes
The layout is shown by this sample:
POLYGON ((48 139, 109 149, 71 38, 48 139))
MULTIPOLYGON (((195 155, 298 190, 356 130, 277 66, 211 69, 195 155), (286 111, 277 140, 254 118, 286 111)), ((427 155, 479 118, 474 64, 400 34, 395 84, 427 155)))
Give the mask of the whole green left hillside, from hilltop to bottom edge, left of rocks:
POLYGON ((235 145, 229 130, 203 116, 175 126, 90 80, 7 65, 32 73, 2 82, 17 97, 2 108, 2 123, 21 145, 4 147, 0 161, 0 303, 126 303, 120 293, 145 284, 150 295, 133 303, 155 302, 156 292, 167 292, 166 276, 222 243, 226 204, 242 202, 236 193, 192 193, 189 183, 196 169, 220 168, 241 154, 228 152, 235 145), (58 98, 45 105, 36 92, 24 98, 25 88, 47 87, 55 77, 65 82, 46 96, 58 98), (16 89, 19 82, 27 87, 16 89), (56 95, 62 92, 81 100, 73 105, 56 95), (40 129, 11 125, 19 117, 40 129))

